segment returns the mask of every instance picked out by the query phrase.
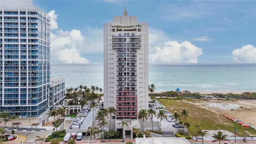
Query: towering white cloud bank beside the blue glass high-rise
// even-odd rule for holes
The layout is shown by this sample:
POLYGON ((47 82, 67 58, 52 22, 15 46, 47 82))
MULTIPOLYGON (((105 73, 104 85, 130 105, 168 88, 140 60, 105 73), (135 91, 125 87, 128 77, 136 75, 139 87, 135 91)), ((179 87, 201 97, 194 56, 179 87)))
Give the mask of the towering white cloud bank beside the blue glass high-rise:
POLYGON ((81 56, 86 46, 84 46, 85 38, 80 30, 58 30, 55 10, 50 11, 48 14, 51 16, 51 30, 56 29, 56 32, 50 34, 51 61, 53 63, 90 63, 90 60, 81 56))

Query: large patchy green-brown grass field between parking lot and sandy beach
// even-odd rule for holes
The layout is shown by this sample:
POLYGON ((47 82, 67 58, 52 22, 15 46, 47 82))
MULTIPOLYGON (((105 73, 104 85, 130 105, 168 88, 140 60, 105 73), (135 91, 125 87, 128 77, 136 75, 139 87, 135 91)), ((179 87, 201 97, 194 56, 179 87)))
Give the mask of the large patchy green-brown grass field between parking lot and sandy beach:
MULTIPOLYGON (((198 129, 200 130, 227 130, 232 133, 234 133, 234 128, 237 128, 237 135, 244 136, 243 126, 211 110, 193 104, 195 102, 191 99, 158 98, 157 100, 172 113, 177 111, 181 115, 182 110, 188 111, 188 117, 185 122, 190 124, 188 131, 191 135, 196 135, 194 125, 199 125, 198 129)), ((180 117, 180 119, 183 122, 183 118, 180 117)), ((256 136, 256 130, 248 128, 246 131, 247 136, 256 136)))

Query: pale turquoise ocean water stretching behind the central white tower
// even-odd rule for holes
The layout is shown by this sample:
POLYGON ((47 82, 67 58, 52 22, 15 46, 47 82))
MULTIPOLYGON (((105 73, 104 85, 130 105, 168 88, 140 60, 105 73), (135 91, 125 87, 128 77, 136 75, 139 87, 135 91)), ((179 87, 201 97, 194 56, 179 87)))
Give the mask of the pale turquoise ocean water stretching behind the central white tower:
MULTIPOLYGON (((256 90, 256 64, 150 64, 148 70, 156 92, 256 90)), ((52 64, 51 77, 64 77, 66 88, 82 84, 103 89, 103 64, 52 64)))

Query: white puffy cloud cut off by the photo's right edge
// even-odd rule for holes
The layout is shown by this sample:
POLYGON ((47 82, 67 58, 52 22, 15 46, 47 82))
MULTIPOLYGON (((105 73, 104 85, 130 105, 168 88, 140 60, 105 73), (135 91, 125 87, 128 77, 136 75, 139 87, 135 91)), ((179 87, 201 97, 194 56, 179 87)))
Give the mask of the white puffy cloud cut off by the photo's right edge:
POLYGON ((256 63, 256 48, 252 45, 242 46, 232 51, 234 62, 256 63))

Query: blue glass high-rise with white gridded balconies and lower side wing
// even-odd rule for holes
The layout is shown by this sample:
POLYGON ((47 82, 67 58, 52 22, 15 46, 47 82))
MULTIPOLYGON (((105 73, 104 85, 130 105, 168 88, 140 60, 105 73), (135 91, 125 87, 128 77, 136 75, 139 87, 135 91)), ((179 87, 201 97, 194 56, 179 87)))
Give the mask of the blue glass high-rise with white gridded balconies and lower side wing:
MULTIPOLYGON (((47 118, 64 100, 64 80, 50 82, 50 17, 34 6, 0 6, 0 112, 47 118)), ((35 120, 36 122, 36 120, 35 120)))

